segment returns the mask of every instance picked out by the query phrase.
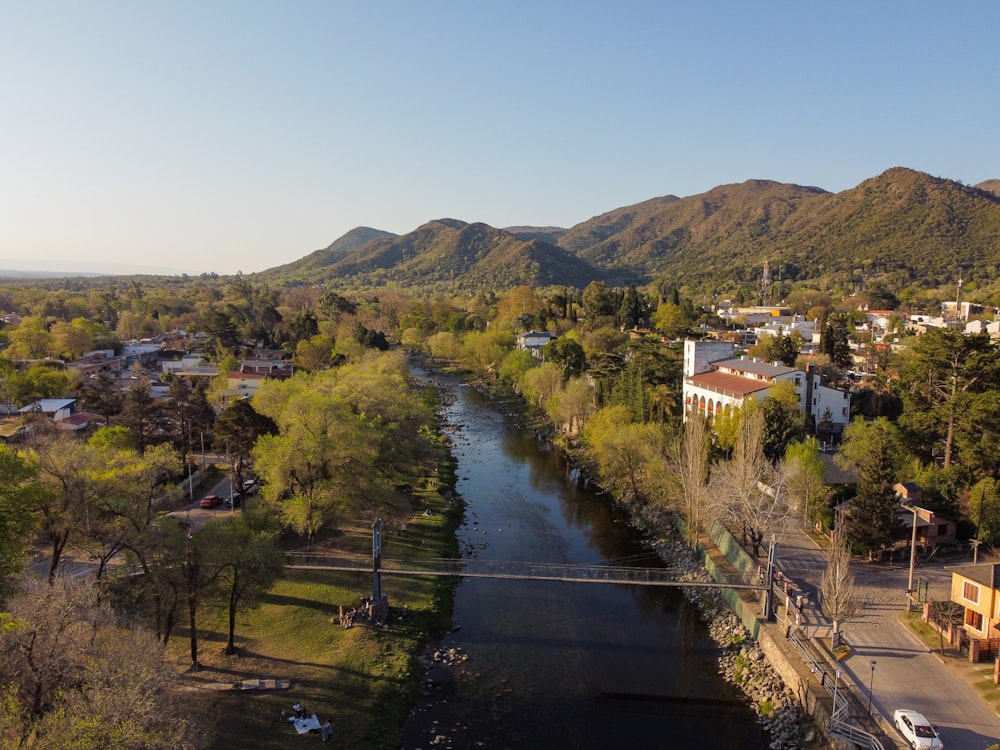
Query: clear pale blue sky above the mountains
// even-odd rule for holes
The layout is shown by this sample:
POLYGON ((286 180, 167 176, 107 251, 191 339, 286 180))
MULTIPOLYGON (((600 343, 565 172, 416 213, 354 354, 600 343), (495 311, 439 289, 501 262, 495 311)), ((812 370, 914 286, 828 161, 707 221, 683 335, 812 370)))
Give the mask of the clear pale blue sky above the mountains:
POLYGON ((0 268, 249 273, 356 226, 1000 178, 998 39, 996 0, 0 0, 0 268))

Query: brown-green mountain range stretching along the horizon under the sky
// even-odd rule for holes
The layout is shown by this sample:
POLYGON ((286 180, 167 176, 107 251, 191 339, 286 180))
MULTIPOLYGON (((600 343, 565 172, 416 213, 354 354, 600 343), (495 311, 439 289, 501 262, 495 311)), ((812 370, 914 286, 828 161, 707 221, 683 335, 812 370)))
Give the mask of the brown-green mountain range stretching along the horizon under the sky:
MULTIPOLYGON (((871 278, 900 288, 1000 269, 1000 180, 975 186, 894 167, 840 193, 768 180, 613 209, 574 227, 429 221, 404 235, 359 227, 256 276, 360 291, 502 291, 666 282, 702 291, 756 283, 767 261, 786 282, 871 278)), ((969 287, 974 288, 974 287, 969 287)))

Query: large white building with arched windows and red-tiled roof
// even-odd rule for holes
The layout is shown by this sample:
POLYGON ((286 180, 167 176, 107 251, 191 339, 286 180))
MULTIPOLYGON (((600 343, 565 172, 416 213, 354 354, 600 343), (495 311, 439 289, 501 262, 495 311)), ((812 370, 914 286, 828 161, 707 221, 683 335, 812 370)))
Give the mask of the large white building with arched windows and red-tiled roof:
POLYGON ((822 385, 811 365, 801 370, 735 354, 736 345, 728 341, 684 342, 685 414, 699 412, 711 419, 751 399, 763 401, 773 386, 791 382, 799 410, 817 425, 828 419, 827 430, 839 434, 850 421, 850 394, 822 385))

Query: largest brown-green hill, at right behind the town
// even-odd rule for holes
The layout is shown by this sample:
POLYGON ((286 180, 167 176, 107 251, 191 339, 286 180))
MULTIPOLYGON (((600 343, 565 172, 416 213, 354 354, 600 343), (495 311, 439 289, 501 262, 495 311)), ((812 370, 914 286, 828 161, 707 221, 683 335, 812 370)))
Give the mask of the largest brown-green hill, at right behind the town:
POLYGON ((928 285, 958 273, 995 278, 1000 263, 996 195, 902 168, 837 194, 762 180, 724 185, 587 246, 580 238, 593 236, 591 222, 560 244, 607 272, 697 287, 759 278, 765 260, 787 280, 895 274, 928 285))

